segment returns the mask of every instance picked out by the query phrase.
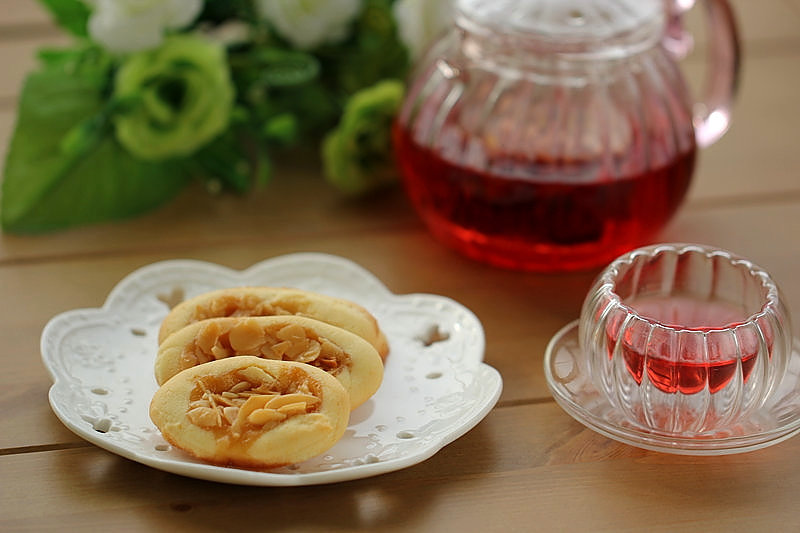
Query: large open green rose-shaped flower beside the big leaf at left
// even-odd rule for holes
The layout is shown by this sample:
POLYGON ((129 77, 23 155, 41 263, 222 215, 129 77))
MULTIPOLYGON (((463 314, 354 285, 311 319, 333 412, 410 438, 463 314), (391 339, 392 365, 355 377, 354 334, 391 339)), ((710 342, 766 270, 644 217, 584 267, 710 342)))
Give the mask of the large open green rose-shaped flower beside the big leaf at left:
POLYGON ((133 102, 114 117, 120 143, 137 157, 163 159, 191 154, 223 132, 234 88, 221 46, 175 36, 127 59, 114 96, 133 102))

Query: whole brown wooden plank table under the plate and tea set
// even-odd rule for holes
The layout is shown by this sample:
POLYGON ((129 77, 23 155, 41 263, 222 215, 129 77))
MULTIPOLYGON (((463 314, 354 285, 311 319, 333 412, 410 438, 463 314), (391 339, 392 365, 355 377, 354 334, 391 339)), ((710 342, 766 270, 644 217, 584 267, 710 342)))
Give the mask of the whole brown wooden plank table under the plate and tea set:
MULTIPOLYGON (((733 129, 702 153, 689 200, 660 239, 753 259, 800 312, 800 0, 735 4, 745 61, 733 129)), ((0 151, 34 50, 65 41, 32 1, 3 0, 0 151)), ((693 80, 701 64, 687 60, 693 80)), ((556 405, 545 345, 577 317, 596 271, 535 275, 470 262, 429 237, 399 189, 346 200, 306 159, 282 162, 272 185, 246 198, 187 190, 128 222, 0 236, 0 530, 798 530, 800 438, 739 455, 668 455, 602 437, 556 405), (239 269, 298 251, 341 255, 395 293, 442 294, 472 309, 486 361, 504 378, 496 408, 417 466, 301 488, 167 474, 86 443, 51 412, 38 343, 55 314, 100 306, 153 261, 239 269)))

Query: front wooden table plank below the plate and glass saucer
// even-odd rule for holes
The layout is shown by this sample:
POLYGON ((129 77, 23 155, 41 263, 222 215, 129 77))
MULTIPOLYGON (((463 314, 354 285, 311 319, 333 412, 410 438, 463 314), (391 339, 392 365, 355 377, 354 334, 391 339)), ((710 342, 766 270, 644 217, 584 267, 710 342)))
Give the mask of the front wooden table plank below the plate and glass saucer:
POLYGON ((222 530, 266 501, 280 531, 791 531, 798 453, 797 438, 745 455, 647 452, 527 405, 496 409, 417 466, 315 487, 202 482, 94 447, 6 455, 0 529, 222 530))

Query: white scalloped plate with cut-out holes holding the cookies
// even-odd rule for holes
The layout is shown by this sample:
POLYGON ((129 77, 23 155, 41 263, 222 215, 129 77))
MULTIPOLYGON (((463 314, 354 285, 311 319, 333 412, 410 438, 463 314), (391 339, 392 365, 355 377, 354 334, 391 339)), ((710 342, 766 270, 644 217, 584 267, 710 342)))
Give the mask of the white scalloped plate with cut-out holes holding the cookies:
POLYGON ((417 464, 474 427, 502 389, 500 374, 482 362, 483 328, 471 311, 441 296, 394 295, 363 268, 324 254, 276 257, 244 271, 188 260, 143 267, 102 308, 54 317, 41 349, 54 381, 50 405, 77 435, 160 470, 241 485, 333 483, 417 464), (168 312, 162 299, 175 289, 189 298, 242 285, 347 298, 371 311, 389 340, 380 389, 324 455, 271 471, 213 466, 169 446, 150 421, 157 333, 168 312), (425 346, 420 337, 432 326, 449 338, 425 346))

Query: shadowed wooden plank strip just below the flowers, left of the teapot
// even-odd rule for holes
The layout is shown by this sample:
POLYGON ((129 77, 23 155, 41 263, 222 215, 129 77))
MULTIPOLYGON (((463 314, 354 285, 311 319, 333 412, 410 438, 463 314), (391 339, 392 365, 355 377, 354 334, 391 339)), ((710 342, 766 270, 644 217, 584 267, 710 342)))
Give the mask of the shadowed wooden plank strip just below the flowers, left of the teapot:
POLYGON ((179 251, 202 244, 297 239, 309 232, 327 235, 420 225, 399 188, 359 200, 344 197, 324 181, 315 154, 278 161, 274 168, 269 185, 244 197, 212 195, 197 185, 138 219, 34 237, 4 233, 0 262, 43 254, 179 251), (124 239, 119 238, 121 234, 124 239))

